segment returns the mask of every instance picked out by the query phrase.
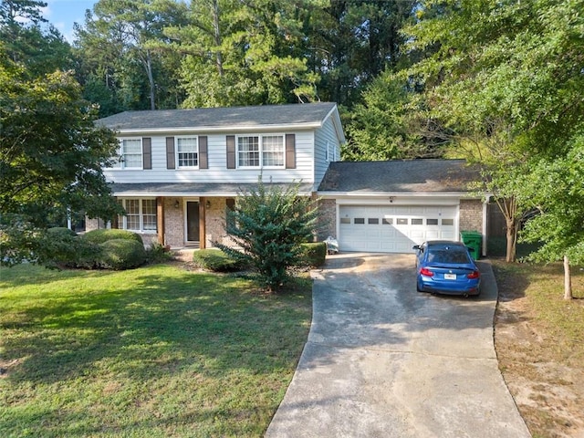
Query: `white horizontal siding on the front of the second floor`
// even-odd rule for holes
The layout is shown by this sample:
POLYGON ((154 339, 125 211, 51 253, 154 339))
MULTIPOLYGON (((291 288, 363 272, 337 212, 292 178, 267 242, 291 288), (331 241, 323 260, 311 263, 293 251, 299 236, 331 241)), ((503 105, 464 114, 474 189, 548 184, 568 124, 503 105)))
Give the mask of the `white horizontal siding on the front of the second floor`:
MULTIPOLYGON (((250 134, 253 133, 255 132, 250 132, 250 134)), ((113 183, 255 183, 258 176, 263 173, 265 182, 292 183, 302 180, 303 183, 313 183, 314 133, 311 130, 294 133, 296 134, 296 169, 266 169, 264 172, 260 169, 227 169, 225 139, 229 133, 225 132, 207 136, 209 169, 168 170, 166 168, 166 137, 172 136, 169 133, 168 135, 145 136, 151 138, 151 170, 104 169, 104 175, 113 183)))

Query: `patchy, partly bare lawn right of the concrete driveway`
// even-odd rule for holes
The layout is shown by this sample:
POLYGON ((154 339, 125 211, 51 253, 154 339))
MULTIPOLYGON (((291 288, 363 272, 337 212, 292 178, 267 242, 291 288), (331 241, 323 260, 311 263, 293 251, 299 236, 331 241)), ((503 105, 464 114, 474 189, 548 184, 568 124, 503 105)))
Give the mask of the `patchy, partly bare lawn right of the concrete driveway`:
POLYGON ((499 367, 534 438, 584 436, 584 270, 495 261, 499 367))

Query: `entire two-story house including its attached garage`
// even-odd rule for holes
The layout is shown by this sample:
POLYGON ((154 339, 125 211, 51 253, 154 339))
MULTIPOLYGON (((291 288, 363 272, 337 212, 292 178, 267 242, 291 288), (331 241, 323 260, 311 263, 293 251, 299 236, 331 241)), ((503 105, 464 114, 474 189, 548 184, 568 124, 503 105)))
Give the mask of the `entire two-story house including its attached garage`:
POLYGON ((469 191, 478 172, 462 160, 340 162, 334 103, 128 111, 98 122, 120 140, 120 162, 104 173, 127 215, 111 226, 146 244, 227 243, 225 209, 260 176, 318 197, 318 237, 336 237, 341 251, 403 253, 463 230, 487 234, 488 205, 469 191))

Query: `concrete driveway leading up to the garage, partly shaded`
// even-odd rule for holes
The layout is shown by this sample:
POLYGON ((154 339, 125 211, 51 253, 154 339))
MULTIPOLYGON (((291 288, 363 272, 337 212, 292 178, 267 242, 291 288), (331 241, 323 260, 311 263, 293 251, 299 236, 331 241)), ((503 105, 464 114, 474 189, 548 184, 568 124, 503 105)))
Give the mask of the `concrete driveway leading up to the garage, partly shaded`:
POLYGON ((497 368, 495 277, 479 298, 416 292, 413 255, 335 255, 266 437, 529 437, 497 368))

